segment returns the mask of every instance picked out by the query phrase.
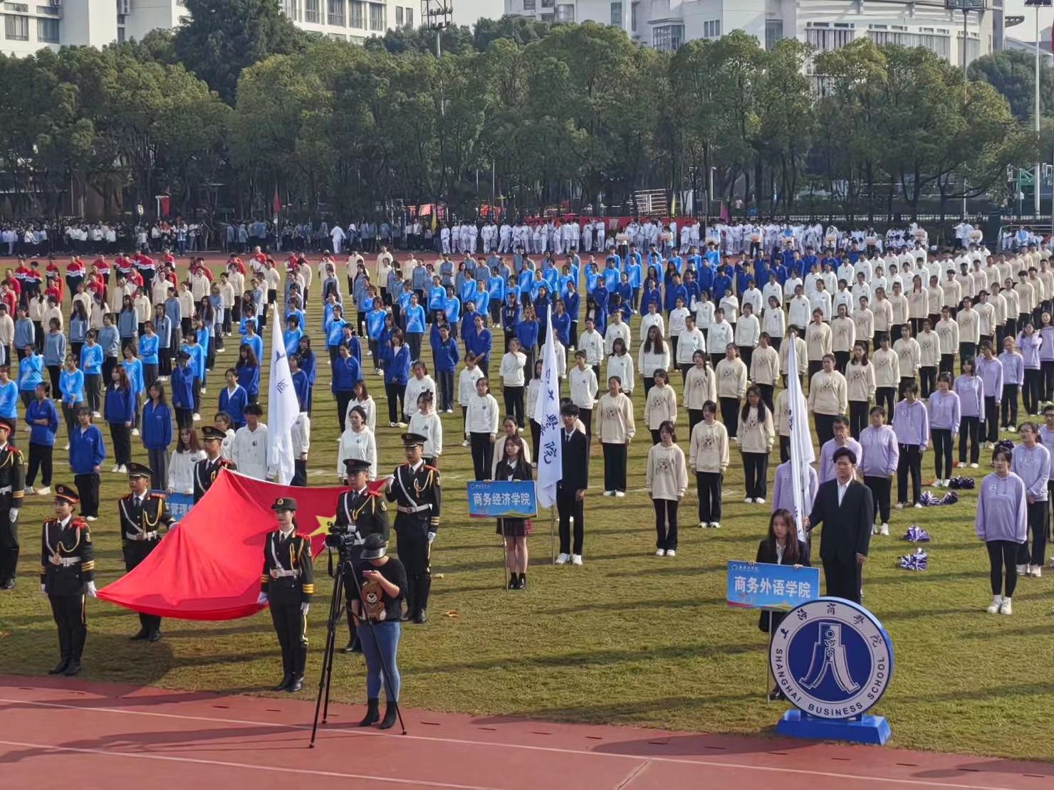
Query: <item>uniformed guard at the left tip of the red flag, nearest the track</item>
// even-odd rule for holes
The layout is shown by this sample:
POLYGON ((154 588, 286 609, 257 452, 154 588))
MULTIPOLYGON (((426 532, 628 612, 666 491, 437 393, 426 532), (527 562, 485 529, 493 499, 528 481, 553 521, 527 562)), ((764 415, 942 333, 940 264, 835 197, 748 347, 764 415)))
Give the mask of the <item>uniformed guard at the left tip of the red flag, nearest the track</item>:
POLYGON ((51 675, 80 672, 87 638, 84 594, 95 597, 95 551, 87 521, 73 514, 80 503, 75 489, 55 487, 55 517, 44 521, 40 540, 40 592, 52 605, 59 630, 61 659, 51 675))

